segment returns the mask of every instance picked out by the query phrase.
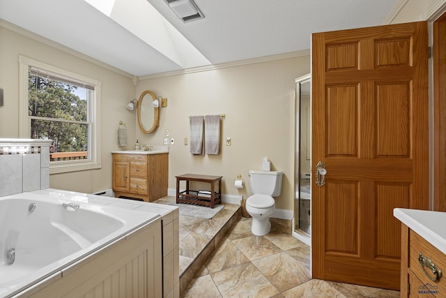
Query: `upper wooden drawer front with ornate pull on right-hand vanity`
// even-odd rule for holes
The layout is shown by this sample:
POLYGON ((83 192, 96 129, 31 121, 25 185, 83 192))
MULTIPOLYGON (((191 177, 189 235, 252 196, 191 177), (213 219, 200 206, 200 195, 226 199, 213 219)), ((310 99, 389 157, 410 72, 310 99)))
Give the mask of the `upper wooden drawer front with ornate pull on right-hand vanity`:
POLYGON ((421 237, 413 230, 410 230, 409 234, 410 247, 409 247, 409 267, 410 270, 420 279, 420 285, 411 285, 411 292, 418 290, 438 290, 438 297, 445 297, 446 295, 446 256, 432 244, 429 244, 423 237, 421 237), (432 281, 429 276, 435 278, 435 275, 429 268, 424 267, 428 271, 429 276, 426 276, 420 261, 418 260, 419 254, 426 258, 429 258, 433 264, 436 265, 438 270, 442 271, 443 277, 439 281, 432 281), (429 284, 429 285, 426 285, 429 284), (424 286, 424 288, 423 288, 424 286), (421 288, 419 288, 421 287, 421 288))

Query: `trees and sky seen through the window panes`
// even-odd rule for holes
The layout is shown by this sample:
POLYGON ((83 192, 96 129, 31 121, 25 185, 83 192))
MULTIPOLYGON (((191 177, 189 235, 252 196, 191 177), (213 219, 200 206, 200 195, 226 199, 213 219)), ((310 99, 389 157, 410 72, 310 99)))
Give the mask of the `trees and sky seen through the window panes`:
MULTIPOLYGON (((88 100, 91 89, 29 73, 31 138, 53 140, 50 151, 79 152, 70 158, 88 158, 88 100)), ((56 155, 54 155, 56 156, 56 155)), ((67 156, 67 155, 65 155, 67 156)), ((58 158, 52 158, 58 159, 58 158)))

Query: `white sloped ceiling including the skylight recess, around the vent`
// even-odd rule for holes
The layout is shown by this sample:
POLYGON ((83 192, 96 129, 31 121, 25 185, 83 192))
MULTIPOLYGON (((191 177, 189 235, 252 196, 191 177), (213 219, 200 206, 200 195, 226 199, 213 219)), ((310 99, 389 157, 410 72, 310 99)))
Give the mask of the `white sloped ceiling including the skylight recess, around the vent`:
POLYGON ((84 0, 0 0, 0 18, 141 76, 309 50, 312 33, 382 24, 397 3, 195 0, 204 19, 183 23, 164 0, 88 1, 110 17, 84 0))

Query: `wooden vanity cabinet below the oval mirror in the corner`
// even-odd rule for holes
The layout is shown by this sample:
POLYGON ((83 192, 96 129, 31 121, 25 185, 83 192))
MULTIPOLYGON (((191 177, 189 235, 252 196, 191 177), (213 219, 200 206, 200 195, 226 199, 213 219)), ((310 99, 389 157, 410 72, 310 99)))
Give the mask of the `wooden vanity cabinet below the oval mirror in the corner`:
POLYGON ((169 154, 113 154, 116 198, 153 202, 167 195, 169 154))

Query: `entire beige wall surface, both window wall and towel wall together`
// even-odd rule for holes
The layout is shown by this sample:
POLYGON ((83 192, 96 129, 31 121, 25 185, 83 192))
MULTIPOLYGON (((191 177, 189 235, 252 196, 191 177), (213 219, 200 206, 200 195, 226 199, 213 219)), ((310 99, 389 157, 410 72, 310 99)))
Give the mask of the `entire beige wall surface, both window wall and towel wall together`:
POLYGON ((19 137, 19 54, 102 82, 102 168, 52 174, 50 187, 84 193, 112 188, 110 151, 119 149, 117 128, 118 121, 123 120, 130 144, 124 149, 132 149, 137 138, 143 144, 163 144, 164 131, 169 129, 170 137, 176 140, 170 147, 169 188, 176 187, 177 174, 221 174, 223 193, 247 198, 248 170, 260 169, 263 156, 268 156, 272 170, 284 172, 277 208, 293 209, 294 80, 309 73, 309 56, 141 80, 135 87, 130 76, 3 21, 0 36, 0 88, 4 94, 0 137, 19 137), (147 89, 168 98, 168 106, 160 111, 160 127, 150 135, 139 131, 136 113, 125 109, 129 100, 147 89), (188 117, 222 113, 226 114, 222 141, 231 137, 232 145, 222 143, 217 156, 192 156, 189 147, 183 145, 183 139, 189 138, 188 117), (237 174, 245 179, 242 190, 232 185, 237 174))

